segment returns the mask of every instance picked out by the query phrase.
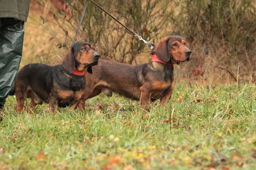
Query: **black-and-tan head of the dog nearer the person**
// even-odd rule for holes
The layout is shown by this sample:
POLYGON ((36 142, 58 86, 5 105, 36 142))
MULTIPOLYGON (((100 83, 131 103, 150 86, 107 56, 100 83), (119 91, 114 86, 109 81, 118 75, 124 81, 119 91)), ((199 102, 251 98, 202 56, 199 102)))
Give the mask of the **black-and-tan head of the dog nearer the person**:
POLYGON ((92 72, 92 66, 97 65, 99 54, 89 42, 76 42, 67 52, 63 59, 63 68, 69 73, 73 73, 76 68, 78 71, 92 72))

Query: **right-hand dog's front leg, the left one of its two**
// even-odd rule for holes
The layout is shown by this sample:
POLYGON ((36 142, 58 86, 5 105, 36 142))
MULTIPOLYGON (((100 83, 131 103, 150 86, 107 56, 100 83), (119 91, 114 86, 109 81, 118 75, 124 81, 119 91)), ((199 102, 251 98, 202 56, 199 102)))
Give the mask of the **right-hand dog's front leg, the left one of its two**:
POLYGON ((147 85, 143 85, 140 87, 141 95, 140 95, 140 104, 141 108, 145 111, 150 109, 150 97, 152 92, 148 90, 147 85))

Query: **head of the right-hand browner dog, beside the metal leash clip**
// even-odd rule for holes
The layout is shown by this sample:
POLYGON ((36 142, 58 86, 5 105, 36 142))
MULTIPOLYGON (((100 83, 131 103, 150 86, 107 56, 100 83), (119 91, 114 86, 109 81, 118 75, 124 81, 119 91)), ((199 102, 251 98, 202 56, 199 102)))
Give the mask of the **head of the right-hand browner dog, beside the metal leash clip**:
POLYGON ((155 53, 164 62, 179 65, 181 62, 189 61, 191 50, 187 48, 186 42, 180 36, 165 37, 155 45, 155 53))

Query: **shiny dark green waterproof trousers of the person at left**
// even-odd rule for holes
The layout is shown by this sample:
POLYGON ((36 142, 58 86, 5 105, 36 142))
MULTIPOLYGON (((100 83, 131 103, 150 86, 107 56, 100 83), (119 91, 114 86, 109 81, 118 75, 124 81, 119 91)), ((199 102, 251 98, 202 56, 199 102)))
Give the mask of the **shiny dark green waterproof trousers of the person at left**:
POLYGON ((12 88, 22 56, 24 21, 0 18, 0 108, 12 88))

